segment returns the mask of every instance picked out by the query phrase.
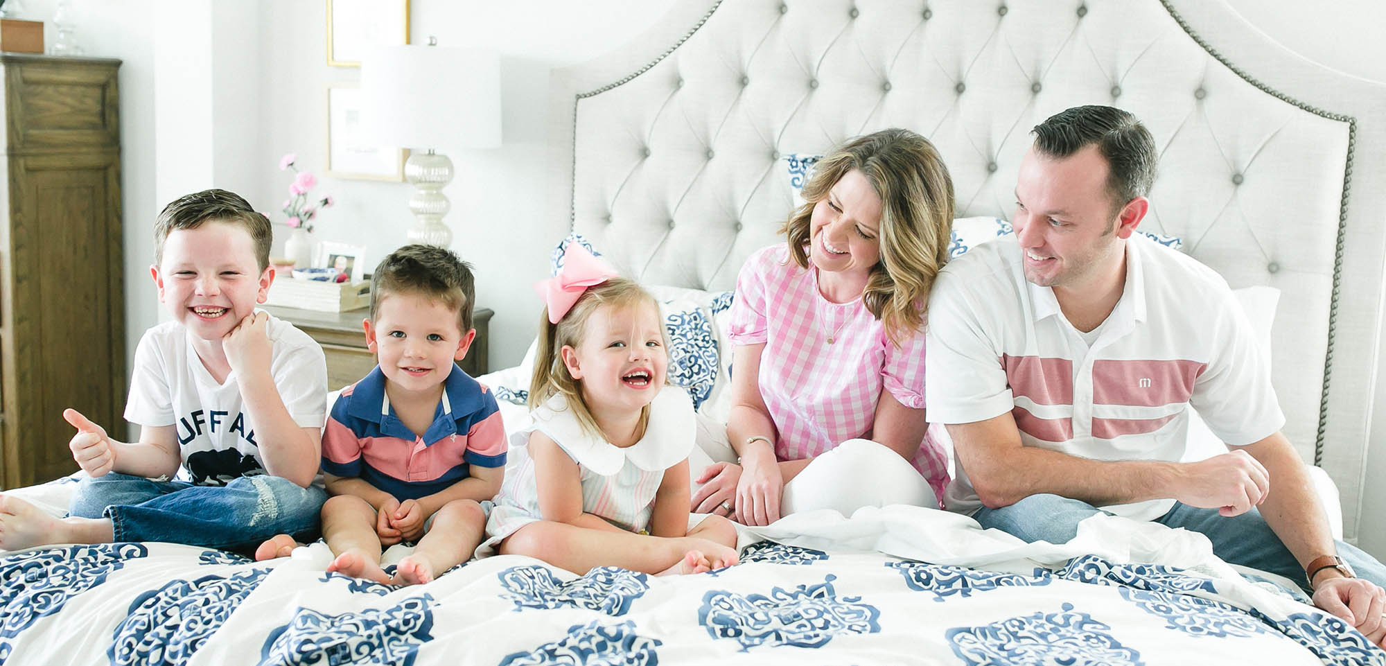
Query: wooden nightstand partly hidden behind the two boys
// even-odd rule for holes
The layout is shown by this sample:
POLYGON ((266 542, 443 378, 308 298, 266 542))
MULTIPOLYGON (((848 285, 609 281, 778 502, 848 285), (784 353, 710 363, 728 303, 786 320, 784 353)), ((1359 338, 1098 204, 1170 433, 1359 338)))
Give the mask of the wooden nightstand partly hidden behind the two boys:
MULTIPOLYGON (((362 319, 370 316, 370 309, 317 312, 283 305, 261 305, 261 308, 298 326, 299 330, 323 345, 323 355, 327 357, 327 388, 335 391, 365 377, 376 368, 376 355, 366 348, 366 333, 360 326, 362 319)), ((471 326, 477 329, 477 339, 471 341, 467 358, 463 358, 457 365, 473 377, 488 372, 486 339, 489 336, 486 329, 493 314, 489 308, 477 308, 471 314, 471 326)))

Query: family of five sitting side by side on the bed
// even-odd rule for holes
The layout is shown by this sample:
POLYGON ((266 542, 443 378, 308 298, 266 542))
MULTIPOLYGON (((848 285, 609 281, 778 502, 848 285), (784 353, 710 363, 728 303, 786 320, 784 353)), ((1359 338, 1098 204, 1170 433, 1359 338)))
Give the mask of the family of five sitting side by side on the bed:
POLYGON ((427 246, 376 269, 380 365, 323 426, 322 350, 255 309, 269 221, 229 191, 182 197, 155 226, 172 321, 136 351, 140 441, 68 409, 87 473, 69 516, 0 495, 0 548, 176 541, 265 559, 320 529, 331 570, 409 584, 492 552, 705 572, 736 563, 733 522, 819 508, 941 506, 1049 543, 1106 512, 1199 531, 1386 645, 1386 567, 1331 537, 1257 332, 1222 278, 1134 234, 1150 133, 1089 105, 1033 135, 1015 237, 954 261, 952 182, 926 139, 887 129, 821 160, 787 240, 740 271, 733 407, 711 443, 667 386, 654 298, 575 243, 539 284, 531 412, 509 441, 492 393, 456 366, 475 334, 470 268, 427 246), (1231 452, 1179 462, 1191 407, 1231 452), (955 479, 929 422, 947 426, 955 479), (690 454, 712 461, 696 483, 690 454), (380 556, 396 543, 417 545, 391 577, 380 556))

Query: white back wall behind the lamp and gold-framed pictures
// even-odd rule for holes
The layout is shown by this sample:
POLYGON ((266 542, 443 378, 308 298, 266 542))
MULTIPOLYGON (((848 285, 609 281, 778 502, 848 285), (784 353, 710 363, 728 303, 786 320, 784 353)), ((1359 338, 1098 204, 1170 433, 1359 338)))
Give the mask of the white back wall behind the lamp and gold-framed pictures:
MULTIPOLYGON (((439 146, 456 176, 444 190, 452 200, 445 221, 453 229, 453 250, 475 266, 477 304, 493 309, 491 368, 514 365, 534 337, 539 301, 529 284, 546 276, 546 255, 532 239, 565 232, 564 221, 545 219, 545 123, 547 75, 556 65, 581 62, 620 46, 657 19, 671 0, 592 0, 570 3, 480 3, 474 0, 413 0, 412 43, 437 36, 444 46, 495 49, 502 54, 505 146, 463 151, 439 146), (532 17, 543 15, 545 21, 532 17)), ((363 244, 374 265, 406 243, 413 222, 407 183, 341 180, 324 176, 327 162, 327 96, 331 85, 355 85, 359 69, 326 64, 326 3, 263 0, 261 47, 263 100, 259 182, 247 191, 251 203, 279 214, 290 173, 277 171, 280 155, 298 154, 298 164, 320 176, 315 194, 331 194, 335 207, 323 211, 319 240, 363 244)), ((276 228, 283 230, 284 228, 276 228)), ((280 247, 280 246, 276 246, 280 247)))

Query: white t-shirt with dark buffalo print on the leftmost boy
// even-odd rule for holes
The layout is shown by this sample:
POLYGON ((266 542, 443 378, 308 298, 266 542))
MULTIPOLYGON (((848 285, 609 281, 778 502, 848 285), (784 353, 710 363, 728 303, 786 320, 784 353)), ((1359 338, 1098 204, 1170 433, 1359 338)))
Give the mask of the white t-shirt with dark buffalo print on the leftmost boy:
MULTIPOLYGON (((236 372, 218 383, 193 348, 187 329, 165 322, 144 332, 134 350, 125 420, 175 426, 183 469, 200 486, 225 486, 265 473, 255 423, 241 409, 236 372)), ((294 327, 269 318, 270 375, 284 407, 302 427, 327 418, 327 364, 323 348, 294 327)), ((182 473, 179 475, 183 476, 182 473)))

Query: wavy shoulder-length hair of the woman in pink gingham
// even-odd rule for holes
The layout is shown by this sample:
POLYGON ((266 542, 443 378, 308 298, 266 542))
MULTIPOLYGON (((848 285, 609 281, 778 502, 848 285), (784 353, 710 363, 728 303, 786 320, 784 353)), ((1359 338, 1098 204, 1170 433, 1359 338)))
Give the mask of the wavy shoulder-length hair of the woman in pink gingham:
POLYGON ((900 344, 923 326, 929 290, 948 261, 952 178, 934 144, 908 129, 883 129, 847 142, 818 161, 804 185, 804 205, 780 229, 800 268, 808 268, 814 207, 850 171, 861 171, 881 203, 880 264, 872 268, 862 300, 900 344))

